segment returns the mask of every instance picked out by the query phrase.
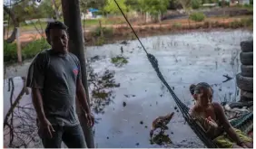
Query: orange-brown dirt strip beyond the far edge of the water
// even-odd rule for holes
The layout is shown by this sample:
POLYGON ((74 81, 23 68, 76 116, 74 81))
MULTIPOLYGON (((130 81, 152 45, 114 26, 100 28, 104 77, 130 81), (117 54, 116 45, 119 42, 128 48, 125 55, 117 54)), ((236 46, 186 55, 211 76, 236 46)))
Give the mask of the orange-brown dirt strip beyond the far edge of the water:
MULTIPOLYGON (((147 36, 147 35, 150 35, 151 33, 155 34, 156 31, 153 31, 153 30, 163 30, 163 31, 157 31, 157 34, 158 33, 165 33, 166 31, 164 31, 164 30, 168 30, 168 29, 169 30, 172 29, 172 31, 173 30, 174 31, 179 30, 179 29, 174 29, 173 24, 179 25, 180 28, 182 28, 182 29, 186 29, 186 28, 193 29, 197 25, 200 26, 200 25, 204 24, 205 22, 218 22, 218 23, 222 23, 222 24, 228 24, 228 23, 231 23, 233 21, 240 20, 240 19, 241 19, 241 17, 231 17, 231 18, 211 17, 211 18, 207 18, 205 21, 200 22, 200 23, 189 21, 188 19, 172 19, 172 20, 162 21, 162 23, 133 24, 133 28, 137 33, 141 33, 141 35, 147 36), (147 29, 147 30, 145 31, 145 29, 147 29), (148 30, 148 29, 150 29, 150 30, 148 30), (146 34, 144 32, 146 32, 146 34)), ((116 34, 121 39, 122 39, 122 37, 120 37, 120 35, 126 36, 127 33, 132 33, 131 29, 128 28, 127 23, 115 24, 115 25, 103 25, 103 27, 113 28, 113 36, 114 36, 114 34, 116 34)), ((86 34, 90 35, 91 32, 92 31, 90 31, 90 30, 86 30, 84 32, 84 34, 85 35, 86 34)), ((24 33, 21 33, 21 36, 20 36, 19 39, 22 42, 22 44, 25 44, 26 42, 31 42, 34 39, 42 38, 42 35, 45 37, 44 33, 40 34, 36 31, 34 31, 34 32, 24 32, 24 33)), ((5 36, 5 39, 6 39, 6 36, 5 36)), ((86 37, 85 37, 85 39, 86 39, 86 37)), ((115 39, 114 39, 114 41, 115 41, 115 39)))

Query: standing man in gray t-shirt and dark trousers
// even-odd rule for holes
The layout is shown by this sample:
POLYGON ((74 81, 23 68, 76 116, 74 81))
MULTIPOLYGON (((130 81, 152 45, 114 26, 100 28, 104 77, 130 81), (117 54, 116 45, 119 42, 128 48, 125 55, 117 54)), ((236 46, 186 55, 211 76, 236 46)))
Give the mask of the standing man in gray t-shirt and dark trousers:
POLYGON ((45 148, 60 148, 62 141, 69 148, 85 148, 83 129, 75 111, 75 98, 83 107, 89 126, 94 126, 94 116, 86 100, 80 62, 68 51, 64 23, 48 23, 45 34, 52 48, 35 56, 26 82, 26 86, 32 88, 39 136, 45 148))

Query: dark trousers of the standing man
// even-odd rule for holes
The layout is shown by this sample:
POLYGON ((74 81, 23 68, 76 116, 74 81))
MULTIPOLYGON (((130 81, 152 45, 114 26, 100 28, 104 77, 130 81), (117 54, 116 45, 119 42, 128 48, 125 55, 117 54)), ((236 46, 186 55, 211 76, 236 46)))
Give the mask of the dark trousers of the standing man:
POLYGON ((44 148, 61 148, 62 141, 68 148, 87 148, 83 129, 77 126, 53 126, 53 138, 45 134, 45 130, 39 128, 39 136, 42 139, 44 148))

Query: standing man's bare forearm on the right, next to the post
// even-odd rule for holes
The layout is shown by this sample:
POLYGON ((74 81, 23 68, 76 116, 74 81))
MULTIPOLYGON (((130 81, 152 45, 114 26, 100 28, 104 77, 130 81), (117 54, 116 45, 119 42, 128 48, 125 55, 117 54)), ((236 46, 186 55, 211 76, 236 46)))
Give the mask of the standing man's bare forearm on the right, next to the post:
POLYGON ((76 83, 76 96, 77 96, 78 101, 81 103, 84 112, 86 114, 90 114, 91 113, 91 109, 90 109, 89 104, 87 102, 85 89, 84 89, 84 86, 82 84, 82 79, 77 79, 77 83, 76 83))

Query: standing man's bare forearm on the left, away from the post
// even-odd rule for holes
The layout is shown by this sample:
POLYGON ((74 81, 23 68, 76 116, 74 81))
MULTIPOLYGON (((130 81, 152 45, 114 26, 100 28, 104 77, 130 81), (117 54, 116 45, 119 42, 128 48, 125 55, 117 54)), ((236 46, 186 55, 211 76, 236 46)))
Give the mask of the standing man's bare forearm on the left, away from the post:
POLYGON ((39 121, 46 119, 44 114, 43 99, 39 88, 32 88, 32 101, 39 121))

